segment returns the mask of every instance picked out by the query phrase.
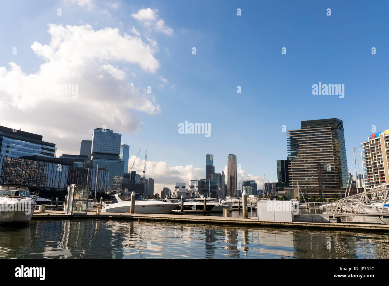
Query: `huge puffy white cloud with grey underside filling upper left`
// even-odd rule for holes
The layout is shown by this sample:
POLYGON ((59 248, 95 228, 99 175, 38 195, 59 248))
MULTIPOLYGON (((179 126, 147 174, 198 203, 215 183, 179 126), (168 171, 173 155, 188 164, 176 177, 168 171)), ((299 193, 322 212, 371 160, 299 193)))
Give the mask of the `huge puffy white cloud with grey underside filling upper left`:
POLYGON ((0 67, 2 125, 45 134, 44 140, 57 143, 61 155, 78 150, 96 127, 137 132, 142 121, 134 111, 160 112, 155 96, 128 83, 128 75, 117 66, 126 63, 156 72, 159 62, 150 45, 121 35, 117 28, 95 31, 89 25, 49 24, 48 32, 48 45, 31 45, 45 61, 36 73, 26 74, 13 62, 8 70, 0 67), (53 92, 58 86, 60 92, 53 92))

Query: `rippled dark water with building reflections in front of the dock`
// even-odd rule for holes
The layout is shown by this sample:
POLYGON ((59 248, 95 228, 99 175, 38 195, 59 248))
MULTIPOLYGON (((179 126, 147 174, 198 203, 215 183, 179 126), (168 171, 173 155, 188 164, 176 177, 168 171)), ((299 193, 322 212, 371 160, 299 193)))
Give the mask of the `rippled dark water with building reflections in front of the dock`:
POLYGON ((378 232, 155 221, 0 225, 1 258, 388 258, 388 241, 378 232))

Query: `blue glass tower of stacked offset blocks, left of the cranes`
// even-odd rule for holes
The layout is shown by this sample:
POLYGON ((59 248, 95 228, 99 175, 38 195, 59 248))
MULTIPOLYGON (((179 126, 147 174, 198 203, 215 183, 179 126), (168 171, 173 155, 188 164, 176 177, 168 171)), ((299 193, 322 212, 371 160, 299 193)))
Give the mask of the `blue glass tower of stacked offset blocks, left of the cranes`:
POLYGON ((109 129, 96 128, 92 138, 91 160, 87 167, 104 168, 109 171, 109 187, 112 187, 113 177, 123 177, 124 161, 119 158, 121 134, 109 129))

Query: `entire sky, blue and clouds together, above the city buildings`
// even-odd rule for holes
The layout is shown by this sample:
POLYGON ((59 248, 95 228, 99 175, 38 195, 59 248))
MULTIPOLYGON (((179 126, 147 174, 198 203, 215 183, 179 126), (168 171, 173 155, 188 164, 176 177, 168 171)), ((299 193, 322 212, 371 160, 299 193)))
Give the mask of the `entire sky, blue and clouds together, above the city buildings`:
MULTIPOLYGON (((90 3, 27 2, 19 7, 7 2, 0 12, 4 23, 20 22, 4 30, 7 44, 0 47, 0 80, 9 82, 0 85, 2 125, 44 134, 56 143, 58 155, 78 153, 81 140, 90 140, 94 128, 106 126, 131 146, 129 164, 149 144, 150 165, 158 164, 158 175, 166 181, 204 178, 205 154, 214 155, 217 173, 226 173, 225 156, 234 153, 241 165, 237 183, 261 183, 263 174, 265 181, 274 182, 276 160, 287 154, 282 130, 299 128, 301 120, 343 120, 349 171, 353 147, 389 128, 384 113, 375 113, 373 119, 357 115, 366 94, 385 102, 385 29, 360 19, 385 21, 387 3, 377 9, 356 1, 356 9, 350 10, 345 3, 329 1, 331 16, 326 15, 328 7, 310 1, 281 6, 231 2, 222 7, 201 1, 196 7, 90 3), (242 16, 237 16, 237 5, 242 16), (259 11, 262 21, 251 25, 259 11), (198 21, 198 13, 204 21, 198 21), (251 37, 258 31, 261 37, 251 37), (317 35, 328 40, 317 45, 312 41, 317 35), (126 51, 135 51, 140 43, 144 54, 131 58, 131 52, 123 54, 109 45, 117 41, 126 51), (15 79, 20 84, 12 85, 15 79), (74 92, 77 84, 77 94, 47 94, 53 82, 70 84, 74 92), (318 83, 344 84, 344 98, 313 95, 312 85, 318 83), (204 102, 218 107, 210 112, 204 102), (65 120, 64 114, 72 116, 65 120), (186 121, 211 124, 210 136, 180 134, 179 124, 186 121)), ((142 153, 134 165, 138 173, 142 153)))

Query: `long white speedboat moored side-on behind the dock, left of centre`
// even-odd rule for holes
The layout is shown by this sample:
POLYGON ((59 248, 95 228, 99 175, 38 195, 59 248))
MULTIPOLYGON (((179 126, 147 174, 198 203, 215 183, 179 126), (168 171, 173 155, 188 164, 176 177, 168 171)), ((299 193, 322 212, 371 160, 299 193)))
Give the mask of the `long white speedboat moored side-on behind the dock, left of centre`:
MULTIPOLYGON (((130 213, 131 194, 115 194, 111 203, 102 210, 106 213, 130 213)), ((170 213, 179 204, 163 201, 147 201, 140 194, 135 194, 135 213, 163 214, 170 213)))

